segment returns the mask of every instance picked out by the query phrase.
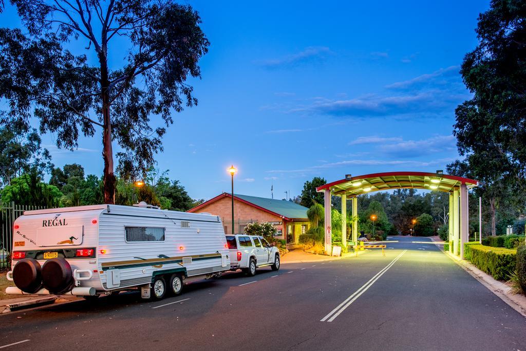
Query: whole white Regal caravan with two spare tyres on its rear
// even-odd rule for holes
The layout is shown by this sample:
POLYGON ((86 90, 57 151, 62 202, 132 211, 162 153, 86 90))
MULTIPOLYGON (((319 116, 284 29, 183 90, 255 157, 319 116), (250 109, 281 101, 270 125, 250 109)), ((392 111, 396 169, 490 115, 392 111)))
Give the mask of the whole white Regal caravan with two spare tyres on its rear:
POLYGON ((14 223, 7 294, 88 298, 141 288, 180 294, 184 283, 230 269, 218 216, 93 205, 26 211, 14 223))

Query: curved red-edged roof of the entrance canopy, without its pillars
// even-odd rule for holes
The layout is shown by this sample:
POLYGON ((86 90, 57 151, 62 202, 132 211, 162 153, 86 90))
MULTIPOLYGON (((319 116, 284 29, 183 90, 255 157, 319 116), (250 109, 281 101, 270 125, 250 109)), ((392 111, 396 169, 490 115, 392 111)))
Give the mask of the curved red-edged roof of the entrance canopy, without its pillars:
POLYGON ((453 192, 460 189, 461 184, 468 188, 477 186, 474 179, 462 178, 447 174, 425 172, 386 172, 373 173, 328 183, 316 188, 318 192, 331 189, 332 195, 347 195, 348 197, 391 189, 425 189, 441 192, 453 192))

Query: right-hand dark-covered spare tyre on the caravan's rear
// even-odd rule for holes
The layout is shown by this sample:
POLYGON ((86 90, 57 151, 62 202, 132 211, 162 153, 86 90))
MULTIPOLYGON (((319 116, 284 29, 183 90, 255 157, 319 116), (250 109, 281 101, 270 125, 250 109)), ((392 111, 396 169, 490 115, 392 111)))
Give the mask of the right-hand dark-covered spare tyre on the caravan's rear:
POLYGON ((48 259, 42 266, 44 287, 52 295, 62 295, 73 288, 73 272, 64 258, 48 259))

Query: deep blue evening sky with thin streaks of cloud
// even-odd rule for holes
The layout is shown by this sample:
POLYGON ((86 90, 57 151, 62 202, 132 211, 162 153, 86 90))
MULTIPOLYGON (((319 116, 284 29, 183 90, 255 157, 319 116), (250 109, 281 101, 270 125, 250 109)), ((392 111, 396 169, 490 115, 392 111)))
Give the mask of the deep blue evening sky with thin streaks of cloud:
MULTIPOLYGON (((174 112, 157 160, 191 197, 229 191, 231 164, 236 192, 270 197, 273 183, 282 198, 314 176, 434 172, 458 157, 459 66, 487 1, 188 4, 211 45, 189 82, 199 104, 174 112)), ((2 20, 19 26, 9 6, 2 20)), ((43 141, 55 165, 102 174, 99 133, 75 152, 43 141)))

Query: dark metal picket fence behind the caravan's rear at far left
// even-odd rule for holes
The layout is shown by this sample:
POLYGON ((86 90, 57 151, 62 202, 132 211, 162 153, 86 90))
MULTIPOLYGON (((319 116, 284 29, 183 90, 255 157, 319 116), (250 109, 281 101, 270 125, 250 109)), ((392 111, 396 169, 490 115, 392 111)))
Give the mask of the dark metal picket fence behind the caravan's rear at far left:
POLYGON ((7 256, 13 248, 13 224, 24 211, 46 208, 44 206, 17 205, 0 202, 0 270, 8 269, 11 262, 7 256))

